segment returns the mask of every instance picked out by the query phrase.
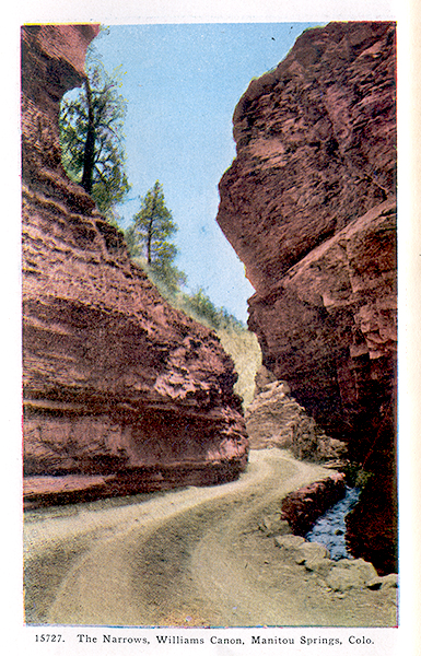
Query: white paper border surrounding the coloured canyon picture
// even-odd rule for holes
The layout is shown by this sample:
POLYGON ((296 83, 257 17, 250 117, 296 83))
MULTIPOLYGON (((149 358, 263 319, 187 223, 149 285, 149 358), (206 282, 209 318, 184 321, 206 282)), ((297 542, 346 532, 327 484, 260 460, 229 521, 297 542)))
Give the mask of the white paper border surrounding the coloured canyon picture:
MULTIPOLYGON (((413 2, 387 2, 384 0, 184 0, 175 3, 174 0, 126 0, 119 5, 115 0, 73 0, 63 2, 59 0, 21 0, 12 8, 7 8, 5 30, 3 32, 3 60, 2 82, 8 92, 8 102, 1 107, 3 137, 5 150, 2 159, 2 189, 4 202, 4 218, 2 224, 3 258, 2 269, 2 297, 4 300, 2 326, 3 345, 3 377, 2 406, 3 429, 7 448, 8 465, 1 478, 3 504, 5 507, 7 526, 3 536, 12 536, 12 553, 10 550, 2 559, 3 572, 8 574, 5 587, 2 588, 3 601, 1 613, 1 639, 4 653, 14 655, 25 649, 28 654, 37 654, 32 642, 33 628, 23 629, 22 598, 21 598, 21 371, 20 371, 20 225, 15 220, 20 215, 20 105, 19 105, 19 26, 23 23, 105 23, 105 24, 136 24, 136 23, 206 23, 206 22, 301 22, 330 20, 397 20, 398 21, 398 128, 399 128, 399 459, 400 459, 400 543, 401 543, 401 599, 400 599, 400 628, 398 630, 367 630, 365 633, 376 632, 382 636, 377 642, 381 651, 363 651, 353 647, 348 651, 346 646, 335 648, 335 654, 382 654, 382 656, 406 654, 411 656, 419 653, 421 620, 421 589, 420 576, 420 524, 417 517, 417 500, 420 499, 421 485, 419 481, 419 464, 421 452, 417 444, 418 426, 421 425, 421 395, 420 389, 420 355, 418 347, 418 332, 420 326, 420 312, 418 304, 419 279, 421 262, 421 229, 418 220, 419 190, 418 171, 421 165, 421 128, 419 107, 421 104, 421 75, 419 73, 418 43, 421 34, 421 12, 418 0, 413 2), (7 128, 5 128, 7 126, 7 128), (12 144, 12 145, 10 145, 12 144), (5 184, 4 184, 5 181, 5 184), (5 349, 4 349, 5 345, 5 349), (12 410, 12 412, 11 412, 12 410)), ((4 540, 4 538, 3 538, 4 540)), ((4 540, 5 547, 9 540, 4 540)), ((95 645, 78 648, 71 644, 71 635, 77 630, 67 628, 69 642, 58 649, 43 647, 44 654, 84 654, 95 653, 95 645)), ((102 635, 103 631, 93 629, 102 635)), ((118 630, 113 630, 117 632, 118 630)), ((128 631, 128 630, 127 630, 128 631)), ((131 630, 130 630, 131 631, 131 630)), ((129 631, 129 632, 130 632, 129 631)), ((140 630, 141 631, 141 630, 140 630)), ((231 634, 230 630, 227 634, 231 634)), ((244 630, 247 633, 247 630, 244 630)), ((267 630, 272 631, 272 630, 267 630)), ((285 630, 286 631, 286 630, 285 630)), ((329 630, 328 630, 329 631, 329 630)), ((342 631, 330 630, 331 635, 342 631)), ((80 631, 79 631, 80 632, 80 631)), ((305 630, 307 635, 325 634, 326 630, 305 630)), ((354 630, 354 633, 356 630, 354 630)), ((161 632, 162 633, 162 632, 161 632)), ((178 632, 182 633, 182 632, 178 632)), ((289 635, 300 635, 299 629, 289 630, 289 635)), ((360 631, 361 633, 361 631, 360 631)), ((236 631, 238 634, 238 631, 236 631)), ((58 646, 58 645, 57 645, 58 646)), ((98 645, 98 653, 104 654, 104 646, 98 645)), ((249 654, 243 647, 211 647, 200 649, 198 654, 249 654)), ((259 647, 260 654, 279 653, 280 647, 259 647)), ((329 647, 303 647, 303 651, 289 648, 289 656, 294 654, 325 654, 329 647)), ((172 653, 185 653, 187 646, 174 646, 172 653)), ((284 647, 283 653, 286 653, 284 647)), ((129 648, 107 647, 107 654, 121 652, 125 654, 152 653, 143 648, 139 651, 129 648)), ((165 653, 155 649, 154 653, 165 653)), ((192 649, 191 649, 192 652, 192 649)))

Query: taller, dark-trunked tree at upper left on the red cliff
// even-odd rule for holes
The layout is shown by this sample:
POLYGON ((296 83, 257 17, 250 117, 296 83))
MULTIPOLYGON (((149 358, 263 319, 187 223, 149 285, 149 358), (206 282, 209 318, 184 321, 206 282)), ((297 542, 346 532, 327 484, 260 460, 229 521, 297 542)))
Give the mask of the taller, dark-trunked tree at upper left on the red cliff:
POLYGON ((107 213, 129 190, 125 172, 122 126, 126 102, 118 93, 118 69, 108 75, 93 50, 86 58, 83 86, 60 107, 62 164, 69 177, 107 213))

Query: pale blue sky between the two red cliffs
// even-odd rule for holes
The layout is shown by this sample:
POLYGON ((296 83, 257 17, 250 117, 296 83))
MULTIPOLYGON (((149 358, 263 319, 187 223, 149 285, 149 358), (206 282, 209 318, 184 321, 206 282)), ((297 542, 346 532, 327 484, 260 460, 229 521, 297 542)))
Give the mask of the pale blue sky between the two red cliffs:
POLYGON ((215 222, 218 184, 235 157, 232 116, 253 78, 276 67, 316 23, 112 25, 95 39, 108 72, 121 65, 127 173, 117 208, 126 226, 156 179, 179 231, 188 289, 247 318, 254 293, 215 222))

